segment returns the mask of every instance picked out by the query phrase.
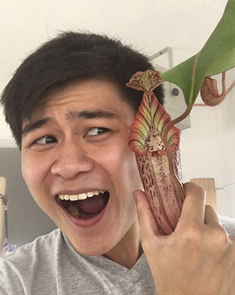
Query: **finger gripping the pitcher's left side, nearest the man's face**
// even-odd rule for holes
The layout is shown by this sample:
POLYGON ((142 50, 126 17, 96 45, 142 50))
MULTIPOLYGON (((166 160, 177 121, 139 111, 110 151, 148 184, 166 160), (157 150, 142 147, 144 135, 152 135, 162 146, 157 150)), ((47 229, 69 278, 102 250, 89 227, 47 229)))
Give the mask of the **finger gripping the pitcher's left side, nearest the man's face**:
POLYGON ((162 236, 145 193, 141 190, 134 191, 134 199, 136 201, 138 222, 141 227, 142 238, 145 238, 145 236, 152 236, 153 233, 162 236))

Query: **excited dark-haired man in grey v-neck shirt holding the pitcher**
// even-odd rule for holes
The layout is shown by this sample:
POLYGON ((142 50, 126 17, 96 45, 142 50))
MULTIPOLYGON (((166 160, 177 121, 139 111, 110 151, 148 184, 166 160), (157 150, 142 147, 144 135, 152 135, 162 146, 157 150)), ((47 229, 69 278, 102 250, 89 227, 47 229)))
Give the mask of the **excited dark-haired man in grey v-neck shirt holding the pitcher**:
POLYGON ((119 41, 73 32, 17 69, 1 103, 29 191, 59 229, 0 258, 1 294, 234 294, 235 238, 204 191, 185 185, 170 236, 141 192, 128 136, 142 93, 125 82, 146 69, 119 41))

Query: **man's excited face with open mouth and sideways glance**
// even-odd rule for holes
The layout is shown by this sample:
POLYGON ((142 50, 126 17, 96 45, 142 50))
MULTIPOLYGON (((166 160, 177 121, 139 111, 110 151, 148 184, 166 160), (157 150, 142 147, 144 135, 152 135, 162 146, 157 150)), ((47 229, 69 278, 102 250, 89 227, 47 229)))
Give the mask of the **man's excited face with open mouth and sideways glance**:
POLYGON ((83 254, 139 238, 132 193, 143 187, 128 145, 134 115, 113 83, 87 80, 50 92, 23 124, 29 191, 83 254))

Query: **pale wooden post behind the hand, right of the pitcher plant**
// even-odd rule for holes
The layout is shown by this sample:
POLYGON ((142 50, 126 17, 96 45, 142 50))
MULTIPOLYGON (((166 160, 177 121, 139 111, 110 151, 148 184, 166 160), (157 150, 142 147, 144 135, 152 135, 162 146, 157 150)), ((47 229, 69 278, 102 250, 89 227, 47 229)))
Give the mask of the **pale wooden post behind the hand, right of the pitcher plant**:
POLYGON ((190 181, 196 183, 206 191, 206 205, 211 205, 217 210, 215 178, 192 178, 190 181))

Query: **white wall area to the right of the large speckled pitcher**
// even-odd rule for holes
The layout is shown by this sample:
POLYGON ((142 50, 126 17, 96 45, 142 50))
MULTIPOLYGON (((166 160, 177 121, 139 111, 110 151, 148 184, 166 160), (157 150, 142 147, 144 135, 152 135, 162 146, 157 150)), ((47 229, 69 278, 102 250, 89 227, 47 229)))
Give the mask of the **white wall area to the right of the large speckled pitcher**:
MULTIPOLYGON (((235 78, 228 71, 227 85, 235 78)), ((194 106, 190 129, 181 136, 184 181, 215 178, 218 213, 235 217, 235 88, 219 106, 194 106)), ((200 103, 198 101, 197 103, 200 103)))

